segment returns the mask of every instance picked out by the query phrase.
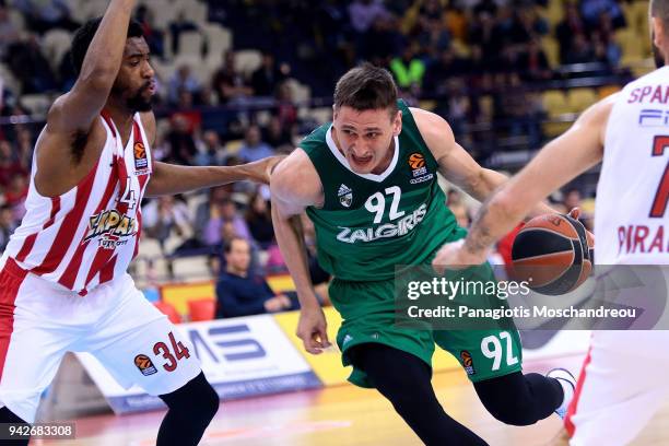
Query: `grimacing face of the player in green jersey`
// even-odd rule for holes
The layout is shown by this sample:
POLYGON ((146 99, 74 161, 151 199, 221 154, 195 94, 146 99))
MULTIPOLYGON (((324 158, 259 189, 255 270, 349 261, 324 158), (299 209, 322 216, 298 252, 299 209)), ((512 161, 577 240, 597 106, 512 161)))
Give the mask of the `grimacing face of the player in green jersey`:
POLYGON ((387 108, 334 109, 333 138, 356 174, 380 174, 392 159, 392 138, 402 129, 402 113, 387 108))

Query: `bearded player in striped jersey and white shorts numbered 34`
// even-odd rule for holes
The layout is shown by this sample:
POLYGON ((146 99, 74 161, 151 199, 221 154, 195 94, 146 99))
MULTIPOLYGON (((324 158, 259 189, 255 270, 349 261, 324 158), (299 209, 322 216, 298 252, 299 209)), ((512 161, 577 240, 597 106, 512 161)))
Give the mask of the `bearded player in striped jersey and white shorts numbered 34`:
POLYGON ((63 354, 87 351, 121 385, 167 404, 159 445, 196 445, 219 398, 190 342, 126 272, 137 255, 140 202, 267 181, 277 160, 187 167, 152 159, 154 72, 142 28, 130 21, 134 4, 111 0, 75 33, 79 78, 51 106, 36 143, 27 213, 0 260, 0 423, 34 422, 63 354))

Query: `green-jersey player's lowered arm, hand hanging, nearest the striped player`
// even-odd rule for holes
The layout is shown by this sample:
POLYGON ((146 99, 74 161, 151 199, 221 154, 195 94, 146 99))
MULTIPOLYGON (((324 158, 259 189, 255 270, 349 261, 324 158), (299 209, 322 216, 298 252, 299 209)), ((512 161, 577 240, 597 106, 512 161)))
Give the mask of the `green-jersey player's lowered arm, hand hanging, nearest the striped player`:
POLYGON ((320 178, 307 154, 297 149, 277 166, 270 189, 274 234, 300 300, 297 337, 307 352, 318 354, 329 347, 327 325, 309 279, 300 215, 322 203, 320 178))

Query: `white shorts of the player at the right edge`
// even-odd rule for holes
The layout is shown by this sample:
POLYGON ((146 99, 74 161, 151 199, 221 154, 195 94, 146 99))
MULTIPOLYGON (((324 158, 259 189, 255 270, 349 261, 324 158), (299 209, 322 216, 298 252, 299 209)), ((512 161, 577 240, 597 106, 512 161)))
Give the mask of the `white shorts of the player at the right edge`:
POLYGON ((667 401, 669 331, 594 331, 565 427, 570 445, 626 445, 667 401))

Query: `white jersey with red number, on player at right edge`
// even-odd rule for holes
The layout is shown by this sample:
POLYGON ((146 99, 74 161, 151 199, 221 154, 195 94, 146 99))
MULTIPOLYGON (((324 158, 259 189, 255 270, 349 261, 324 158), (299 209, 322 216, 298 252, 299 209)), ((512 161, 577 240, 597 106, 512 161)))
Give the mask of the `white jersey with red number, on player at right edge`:
POLYGON ((595 209, 599 265, 669 263, 669 67, 629 83, 606 131, 595 209))

